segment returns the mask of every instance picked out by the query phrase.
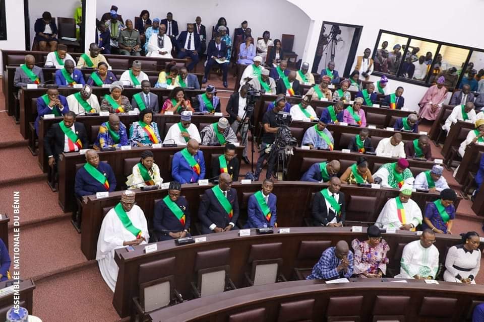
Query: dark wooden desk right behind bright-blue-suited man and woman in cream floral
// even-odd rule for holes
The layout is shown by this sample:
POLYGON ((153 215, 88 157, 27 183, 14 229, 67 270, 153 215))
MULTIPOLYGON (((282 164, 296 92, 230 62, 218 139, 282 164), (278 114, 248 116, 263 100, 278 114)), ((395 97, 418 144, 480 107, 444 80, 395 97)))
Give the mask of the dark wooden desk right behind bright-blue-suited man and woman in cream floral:
MULTIPOLYGON (((138 158, 144 150, 151 150, 158 167, 160 168, 160 176, 164 182, 170 182, 171 178, 171 158, 172 156, 184 149, 185 146, 178 147, 133 147, 131 150, 116 150, 116 151, 99 151, 101 162, 107 162, 116 176, 117 187, 126 187, 125 176, 125 159, 138 158)), ((212 155, 223 154, 223 146, 201 146, 205 158, 205 178, 210 178, 210 166, 212 155)), ((242 150, 244 147, 237 147, 237 157, 239 162, 242 159, 242 150)), ((63 153, 59 156, 58 172, 59 172, 59 205, 64 212, 72 211, 75 203, 74 183, 76 178, 76 165, 84 164, 86 156, 79 154, 79 152, 63 153)), ((130 171, 131 174, 131 171, 130 171)), ((118 188, 119 189, 119 188, 118 188)))

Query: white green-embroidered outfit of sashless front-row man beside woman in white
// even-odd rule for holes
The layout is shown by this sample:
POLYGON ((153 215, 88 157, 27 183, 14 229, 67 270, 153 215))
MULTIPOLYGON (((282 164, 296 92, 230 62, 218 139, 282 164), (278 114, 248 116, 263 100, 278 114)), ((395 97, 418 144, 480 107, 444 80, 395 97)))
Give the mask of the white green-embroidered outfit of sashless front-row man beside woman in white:
POLYGON ((435 278, 439 270, 439 250, 432 245, 425 248, 420 240, 414 240, 403 248, 400 261, 400 274, 395 278, 413 278, 415 275, 421 277, 432 276, 435 278))

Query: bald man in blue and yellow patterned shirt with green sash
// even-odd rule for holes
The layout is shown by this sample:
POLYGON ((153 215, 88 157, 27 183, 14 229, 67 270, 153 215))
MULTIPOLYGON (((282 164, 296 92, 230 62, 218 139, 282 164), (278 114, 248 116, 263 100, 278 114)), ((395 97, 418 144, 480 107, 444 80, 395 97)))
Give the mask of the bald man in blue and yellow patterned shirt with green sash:
POLYGON ((119 120, 119 116, 109 114, 109 120, 99 127, 93 148, 102 150, 109 147, 121 148, 123 145, 130 145, 126 126, 119 120))

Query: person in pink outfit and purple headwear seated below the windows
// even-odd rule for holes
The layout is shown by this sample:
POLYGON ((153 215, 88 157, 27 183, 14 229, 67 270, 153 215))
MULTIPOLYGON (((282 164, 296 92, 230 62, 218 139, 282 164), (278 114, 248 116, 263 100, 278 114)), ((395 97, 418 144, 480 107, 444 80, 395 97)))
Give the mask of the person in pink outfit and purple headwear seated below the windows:
POLYGON ((448 91, 444 87, 444 83, 445 77, 440 76, 437 79, 437 84, 431 86, 425 95, 423 95, 420 102, 418 102, 418 106, 420 106, 420 111, 418 112, 419 119, 424 118, 429 121, 435 121, 442 108, 442 103, 447 98, 448 91))

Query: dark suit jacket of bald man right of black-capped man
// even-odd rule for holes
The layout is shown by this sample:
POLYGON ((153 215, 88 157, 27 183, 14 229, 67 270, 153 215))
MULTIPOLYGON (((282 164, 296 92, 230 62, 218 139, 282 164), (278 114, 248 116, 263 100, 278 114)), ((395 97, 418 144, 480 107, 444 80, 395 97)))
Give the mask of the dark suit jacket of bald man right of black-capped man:
POLYGON ((205 190, 202 200, 200 201, 200 207, 198 209, 198 219, 202 223, 201 233, 212 233, 210 225, 215 224, 219 228, 225 228, 230 222, 236 224, 238 219, 238 200, 237 191, 230 188, 227 192, 227 199, 232 205, 233 216, 228 217, 227 212, 223 209, 220 202, 218 202, 212 189, 205 190))

